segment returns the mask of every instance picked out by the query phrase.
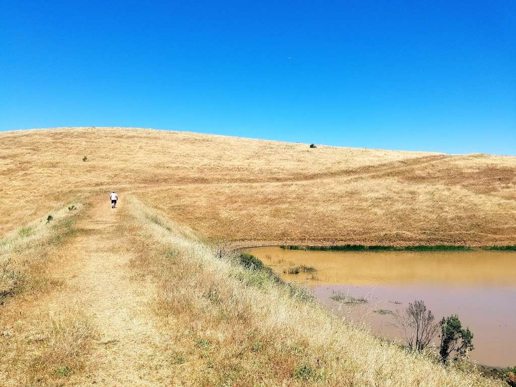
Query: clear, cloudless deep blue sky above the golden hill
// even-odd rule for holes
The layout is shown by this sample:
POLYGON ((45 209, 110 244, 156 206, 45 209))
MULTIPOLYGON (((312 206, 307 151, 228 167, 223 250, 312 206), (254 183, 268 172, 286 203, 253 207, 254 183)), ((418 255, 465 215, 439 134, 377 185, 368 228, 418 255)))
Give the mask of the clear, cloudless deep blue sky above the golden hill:
POLYGON ((108 3, 0 2, 0 131, 516 154, 514 0, 108 3))

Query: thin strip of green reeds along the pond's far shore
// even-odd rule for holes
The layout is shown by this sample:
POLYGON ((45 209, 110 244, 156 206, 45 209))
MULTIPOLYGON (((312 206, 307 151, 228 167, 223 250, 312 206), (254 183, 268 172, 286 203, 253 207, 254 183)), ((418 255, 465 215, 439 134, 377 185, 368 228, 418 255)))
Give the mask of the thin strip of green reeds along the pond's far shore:
POLYGON ((487 246, 470 247, 454 245, 418 245, 418 246, 382 246, 382 245, 335 245, 335 246, 297 246, 281 245, 282 250, 306 250, 306 251, 475 251, 475 250, 496 250, 516 251, 516 246, 487 246))

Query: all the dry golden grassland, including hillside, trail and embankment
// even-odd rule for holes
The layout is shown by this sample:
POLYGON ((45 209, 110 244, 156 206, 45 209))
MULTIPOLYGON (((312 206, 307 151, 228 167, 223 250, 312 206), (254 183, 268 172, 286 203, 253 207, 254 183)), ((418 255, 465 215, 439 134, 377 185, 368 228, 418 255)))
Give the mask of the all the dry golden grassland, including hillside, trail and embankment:
POLYGON ((228 246, 514 244, 516 157, 121 128, 0 143, 0 385, 499 385, 228 246))

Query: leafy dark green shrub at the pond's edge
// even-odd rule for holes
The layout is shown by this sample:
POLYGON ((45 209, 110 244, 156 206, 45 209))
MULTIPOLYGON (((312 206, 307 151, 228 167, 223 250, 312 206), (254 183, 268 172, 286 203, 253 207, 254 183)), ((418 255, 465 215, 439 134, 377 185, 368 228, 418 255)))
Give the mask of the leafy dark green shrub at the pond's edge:
POLYGON ((448 316, 439 322, 441 326, 441 346, 439 354, 443 363, 448 360, 450 354, 455 352, 455 359, 465 356, 473 347, 473 333, 470 328, 463 329, 459 316, 448 316))

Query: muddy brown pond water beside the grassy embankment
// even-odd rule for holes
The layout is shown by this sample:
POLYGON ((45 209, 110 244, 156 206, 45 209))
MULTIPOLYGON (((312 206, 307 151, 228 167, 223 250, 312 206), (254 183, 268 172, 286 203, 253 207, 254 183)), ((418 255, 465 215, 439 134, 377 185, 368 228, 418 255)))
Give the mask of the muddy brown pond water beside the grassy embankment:
POLYGON ((516 365, 514 252, 328 252, 279 247, 249 252, 285 280, 312 287, 337 313, 365 320, 378 335, 402 342, 391 312, 422 299, 436 319, 458 314, 463 326, 470 327, 472 360, 490 366, 516 365), (300 265, 316 271, 284 273, 300 265), (331 299, 335 294, 364 297, 367 302, 346 304, 331 299), (375 312, 379 310, 387 312, 375 312))

